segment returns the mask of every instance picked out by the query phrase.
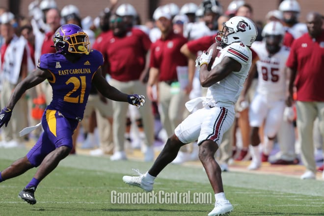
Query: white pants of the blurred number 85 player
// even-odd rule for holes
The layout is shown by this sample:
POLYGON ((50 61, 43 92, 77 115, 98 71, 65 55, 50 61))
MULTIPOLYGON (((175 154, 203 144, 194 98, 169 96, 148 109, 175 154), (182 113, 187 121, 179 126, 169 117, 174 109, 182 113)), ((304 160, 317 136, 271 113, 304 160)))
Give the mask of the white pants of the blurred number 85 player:
POLYGON ((274 137, 281 125, 285 101, 269 101, 261 94, 255 95, 249 109, 251 127, 261 127, 265 122, 264 132, 268 137, 274 137))

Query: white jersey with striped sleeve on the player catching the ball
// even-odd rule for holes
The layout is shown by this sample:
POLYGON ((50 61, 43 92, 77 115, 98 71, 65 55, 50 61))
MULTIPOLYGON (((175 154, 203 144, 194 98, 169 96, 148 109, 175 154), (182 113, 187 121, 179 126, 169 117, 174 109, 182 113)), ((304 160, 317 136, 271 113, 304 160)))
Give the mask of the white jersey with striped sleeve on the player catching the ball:
POLYGON ((218 81, 207 90, 207 100, 213 100, 220 106, 234 105, 243 89, 243 83, 247 78, 252 64, 252 53, 242 43, 233 43, 219 51, 218 56, 212 65, 212 69, 224 57, 230 57, 241 63, 241 70, 232 72, 225 79, 218 81))

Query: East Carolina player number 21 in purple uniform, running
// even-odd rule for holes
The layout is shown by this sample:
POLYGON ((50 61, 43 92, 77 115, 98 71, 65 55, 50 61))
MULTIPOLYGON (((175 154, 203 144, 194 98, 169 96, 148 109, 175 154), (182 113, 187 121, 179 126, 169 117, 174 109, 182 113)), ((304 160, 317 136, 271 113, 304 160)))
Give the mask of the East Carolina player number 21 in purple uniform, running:
POLYGON ((57 52, 41 55, 38 68, 17 85, 0 112, 0 127, 7 126, 12 109, 23 93, 46 79, 50 82, 53 98, 42 117, 44 132, 25 157, 0 172, 0 182, 3 182, 38 167, 32 180, 19 193, 29 204, 36 203, 34 192, 40 181, 69 155, 72 135, 82 120, 91 85, 108 99, 128 102, 137 108, 145 103, 144 96, 127 95, 108 84, 101 75, 103 55, 90 51, 88 36, 81 27, 63 25, 56 30, 53 41, 57 52))

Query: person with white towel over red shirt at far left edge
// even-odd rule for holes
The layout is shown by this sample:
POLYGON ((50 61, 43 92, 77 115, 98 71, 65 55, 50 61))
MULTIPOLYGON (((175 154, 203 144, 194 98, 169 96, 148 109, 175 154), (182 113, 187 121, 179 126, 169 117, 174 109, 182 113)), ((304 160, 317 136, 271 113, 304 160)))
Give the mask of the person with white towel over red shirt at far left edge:
MULTIPOLYGON (((27 77, 28 58, 30 59, 27 52, 27 40, 15 34, 12 25, 14 22, 14 15, 10 12, 5 12, 0 16, 0 33, 4 39, 4 43, 0 48, 0 73, 2 77, 0 103, 2 107, 10 99, 11 93, 18 82, 27 77)), ((27 127, 27 116, 27 98, 24 97, 18 101, 11 122, 2 129, 1 146, 6 148, 24 146, 24 137, 19 137, 19 131, 27 127)))

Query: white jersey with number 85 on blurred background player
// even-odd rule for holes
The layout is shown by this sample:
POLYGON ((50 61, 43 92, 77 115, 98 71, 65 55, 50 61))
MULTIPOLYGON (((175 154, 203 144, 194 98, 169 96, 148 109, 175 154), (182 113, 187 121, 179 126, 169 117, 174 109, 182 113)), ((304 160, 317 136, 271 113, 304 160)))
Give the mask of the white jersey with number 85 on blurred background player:
POLYGON ((257 93, 262 94, 267 100, 277 101, 286 98, 285 65, 289 55, 287 47, 271 57, 266 49, 265 42, 254 42, 251 47, 259 56, 256 62, 258 70, 257 93))

